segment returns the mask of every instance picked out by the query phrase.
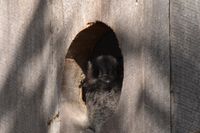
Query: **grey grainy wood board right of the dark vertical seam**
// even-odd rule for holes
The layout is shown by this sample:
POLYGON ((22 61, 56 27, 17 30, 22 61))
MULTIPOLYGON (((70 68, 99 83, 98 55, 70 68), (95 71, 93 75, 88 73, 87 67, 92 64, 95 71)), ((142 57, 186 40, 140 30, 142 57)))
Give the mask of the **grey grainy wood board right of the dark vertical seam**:
POLYGON ((200 1, 171 0, 173 133, 200 131, 200 1))

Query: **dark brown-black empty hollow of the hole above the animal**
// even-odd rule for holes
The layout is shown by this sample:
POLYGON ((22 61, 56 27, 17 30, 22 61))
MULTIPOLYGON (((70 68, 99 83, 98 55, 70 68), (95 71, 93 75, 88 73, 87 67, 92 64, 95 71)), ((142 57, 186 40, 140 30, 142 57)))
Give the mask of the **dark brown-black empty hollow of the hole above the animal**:
MULTIPOLYGON (((123 56, 115 33, 109 26, 99 21, 89 23, 89 25, 88 28, 79 32, 72 41, 66 59, 74 60, 86 76, 88 73, 89 61, 99 56, 114 57, 118 63, 117 82, 119 82, 118 84, 121 88, 124 75, 123 56)), ((80 79, 80 77, 75 78, 80 79)), ((82 80, 84 80, 84 78, 82 78, 82 80)), ((82 88, 82 86, 80 88, 82 88)), ((84 95, 82 95, 82 99, 85 101, 84 95)))

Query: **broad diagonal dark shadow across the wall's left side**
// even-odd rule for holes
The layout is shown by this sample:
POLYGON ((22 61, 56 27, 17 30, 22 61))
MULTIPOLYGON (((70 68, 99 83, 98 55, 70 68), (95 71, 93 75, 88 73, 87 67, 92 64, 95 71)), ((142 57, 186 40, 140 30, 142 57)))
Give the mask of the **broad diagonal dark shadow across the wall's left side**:
POLYGON ((8 72, 4 85, 1 87, 0 119, 7 112, 13 111, 15 116, 9 133, 47 132, 46 122, 44 121, 46 118, 41 112, 47 69, 41 73, 39 83, 34 86, 35 90, 30 96, 26 96, 23 90, 32 88, 23 88, 22 79, 24 78, 23 70, 27 66, 27 62, 40 54, 44 48, 46 36, 43 29, 46 7, 46 1, 41 0, 24 34, 23 41, 16 51, 13 66, 8 72), (43 128, 40 129, 40 127, 43 128))

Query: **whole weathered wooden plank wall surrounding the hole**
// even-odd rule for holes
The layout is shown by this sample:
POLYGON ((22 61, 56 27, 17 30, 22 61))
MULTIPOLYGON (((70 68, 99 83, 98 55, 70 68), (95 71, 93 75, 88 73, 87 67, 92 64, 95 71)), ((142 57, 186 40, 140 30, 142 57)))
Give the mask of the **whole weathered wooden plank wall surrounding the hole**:
POLYGON ((124 56, 119 109, 104 132, 200 130, 198 0, 0 0, 0 7, 1 133, 60 132, 60 117, 68 118, 59 113, 65 54, 96 20, 114 30, 124 56))

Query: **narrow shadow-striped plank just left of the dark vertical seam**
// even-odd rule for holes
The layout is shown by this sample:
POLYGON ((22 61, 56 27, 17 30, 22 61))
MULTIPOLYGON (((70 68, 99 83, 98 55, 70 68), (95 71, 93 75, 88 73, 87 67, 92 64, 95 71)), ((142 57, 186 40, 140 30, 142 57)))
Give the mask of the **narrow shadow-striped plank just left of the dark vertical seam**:
POLYGON ((145 1, 144 10, 144 132, 170 133, 169 1, 145 1))

